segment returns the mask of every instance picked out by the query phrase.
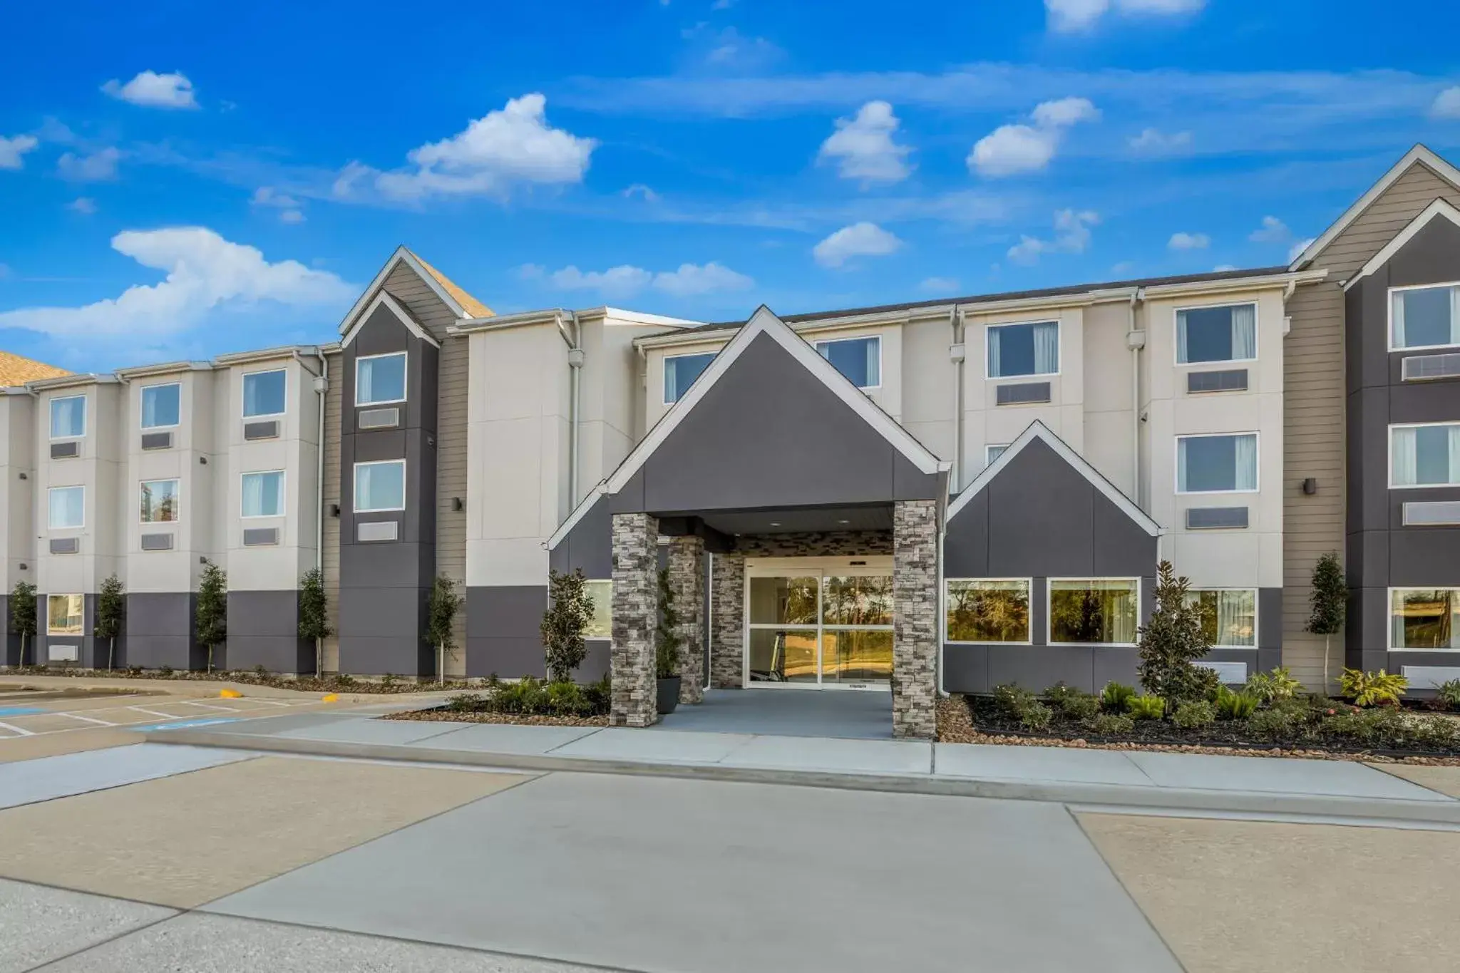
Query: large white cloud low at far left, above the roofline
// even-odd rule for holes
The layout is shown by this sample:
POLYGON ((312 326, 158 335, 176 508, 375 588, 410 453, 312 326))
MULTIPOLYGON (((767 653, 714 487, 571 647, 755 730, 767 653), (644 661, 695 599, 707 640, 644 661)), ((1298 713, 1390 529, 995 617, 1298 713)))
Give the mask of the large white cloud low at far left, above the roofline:
POLYGON ((0 328, 69 338, 149 338, 194 327, 219 306, 263 301, 345 306, 358 292, 334 274, 293 260, 269 263, 258 249, 232 244, 204 226, 124 230, 111 247, 143 267, 166 271, 166 279, 80 308, 0 312, 0 328))

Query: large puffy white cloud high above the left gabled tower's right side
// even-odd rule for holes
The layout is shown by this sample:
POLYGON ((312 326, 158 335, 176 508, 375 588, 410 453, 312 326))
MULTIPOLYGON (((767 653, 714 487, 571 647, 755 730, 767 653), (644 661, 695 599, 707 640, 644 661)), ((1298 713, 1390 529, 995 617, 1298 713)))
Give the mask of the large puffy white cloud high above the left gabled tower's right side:
POLYGON ((413 169, 375 172, 352 162, 334 181, 336 195, 350 195, 362 177, 396 200, 428 195, 502 195, 517 182, 581 182, 597 142, 580 139, 546 120, 548 99, 512 98, 498 111, 472 121, 450 139, 413 149, 413 169))

